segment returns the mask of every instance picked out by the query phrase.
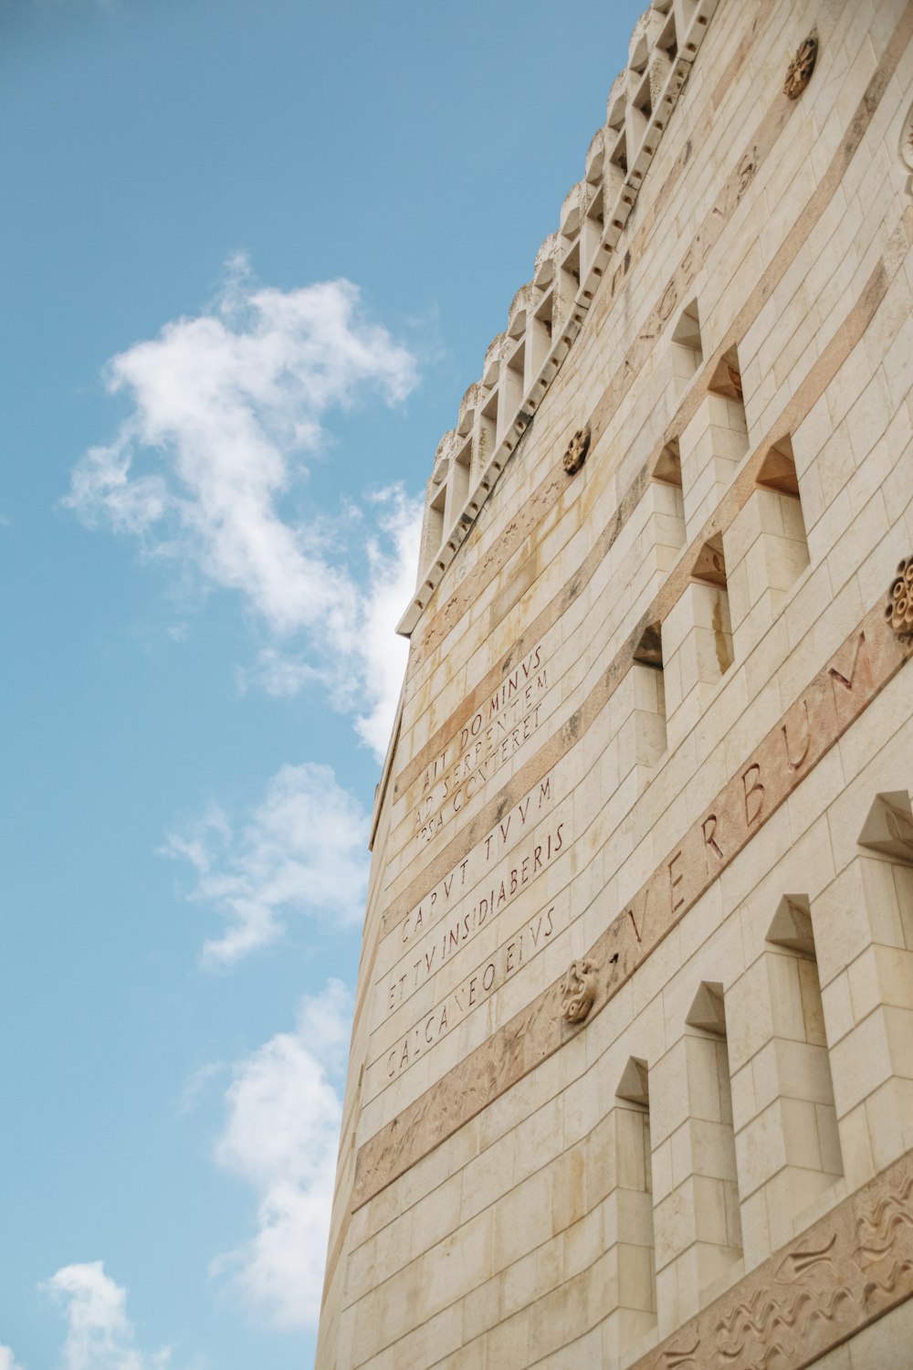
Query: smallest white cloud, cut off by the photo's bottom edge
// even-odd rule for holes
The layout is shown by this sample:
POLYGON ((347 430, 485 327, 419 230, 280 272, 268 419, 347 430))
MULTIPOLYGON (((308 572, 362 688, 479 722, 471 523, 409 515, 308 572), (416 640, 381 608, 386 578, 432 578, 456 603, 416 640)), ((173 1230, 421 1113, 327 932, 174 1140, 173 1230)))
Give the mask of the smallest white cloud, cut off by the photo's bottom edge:
POLYGON ((171 1365, 168 1348, 137 1348, 127 1291, 104 1273, 101 1260, 63 1266, 45 1289, 66 1312, 66 1370, 164 1370, 171 1365))

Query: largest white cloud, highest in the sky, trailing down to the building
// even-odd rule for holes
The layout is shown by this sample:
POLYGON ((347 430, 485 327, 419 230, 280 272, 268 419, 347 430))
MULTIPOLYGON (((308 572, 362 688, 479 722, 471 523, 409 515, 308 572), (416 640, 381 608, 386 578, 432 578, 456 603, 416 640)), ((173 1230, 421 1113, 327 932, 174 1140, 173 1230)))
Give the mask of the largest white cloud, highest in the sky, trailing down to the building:
POLYGON ((355 518, 357 547, 339 547, 334 511, 303 500, 308 462, 329 445, 327 414, 365 395, 405 399, 412 353, 364 318, 349 281, 257 288, 237 258, 212 312, 167 323, 115 356, 105 379, 131 412, 114 443, 77 463, 64 503, 179 574, 240 593, 272 640, 250 677, 279 695, 315 675, 334 693, 348 682, 359 733, 382 754, 420 508, 386 490, 367 503, 370 527, 364 511, 355 518))

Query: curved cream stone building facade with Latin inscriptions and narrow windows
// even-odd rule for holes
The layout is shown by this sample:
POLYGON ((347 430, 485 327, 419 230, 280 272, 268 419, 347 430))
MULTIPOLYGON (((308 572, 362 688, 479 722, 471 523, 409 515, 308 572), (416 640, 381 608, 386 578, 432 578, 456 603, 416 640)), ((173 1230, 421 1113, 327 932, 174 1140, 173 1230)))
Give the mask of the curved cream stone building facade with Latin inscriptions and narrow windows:
POLYGON ((653 0, 438 447, 319 1370, 913 1366, 912 104, 653 0))

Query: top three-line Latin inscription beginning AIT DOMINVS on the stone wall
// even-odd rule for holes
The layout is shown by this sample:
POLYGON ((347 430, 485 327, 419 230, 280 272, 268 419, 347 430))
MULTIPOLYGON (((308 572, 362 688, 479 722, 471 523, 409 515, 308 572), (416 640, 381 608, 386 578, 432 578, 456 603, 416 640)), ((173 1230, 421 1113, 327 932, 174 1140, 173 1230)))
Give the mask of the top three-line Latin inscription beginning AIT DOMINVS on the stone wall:
POLYGON ((532 736, 548 686, 539 644, 435 756, 422 777, 413 814, 413 832, 422 843, 430 843, 532 736))

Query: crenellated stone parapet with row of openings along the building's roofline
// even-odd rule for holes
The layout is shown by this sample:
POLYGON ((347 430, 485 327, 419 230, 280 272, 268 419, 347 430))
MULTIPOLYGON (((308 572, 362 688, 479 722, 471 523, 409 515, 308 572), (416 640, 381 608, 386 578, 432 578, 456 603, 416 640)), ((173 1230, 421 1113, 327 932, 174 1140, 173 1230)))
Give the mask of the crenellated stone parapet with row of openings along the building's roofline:
POLYGON ((583 179, 564 197, 557 233, 537 252, 532 279, 513 296, 505 332, 489 344, 482 377, 434 453, 419 582, 398 625, 407 637, 565 360, 613 256, 624 253, 626 223, 717 4, 653 0, 635 25, 583 179))

